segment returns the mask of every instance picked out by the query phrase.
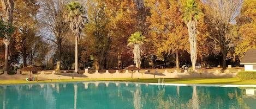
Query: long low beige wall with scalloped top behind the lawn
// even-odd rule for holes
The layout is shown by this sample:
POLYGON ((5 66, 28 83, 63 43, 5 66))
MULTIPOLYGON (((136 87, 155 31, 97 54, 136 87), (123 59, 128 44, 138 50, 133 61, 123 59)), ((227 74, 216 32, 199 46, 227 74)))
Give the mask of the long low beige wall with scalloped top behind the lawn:
POLYGON ((234 78, 240 70, 169 70, 169 69, 142 69, 135 70, 73 70, 56 72, 55 70, 43 70, 37 74, 30 71, 9 75, 7 72, 0 75, 0 80, 25 80, 26 78, 46 79, 104 79, 104 78, 234 78))

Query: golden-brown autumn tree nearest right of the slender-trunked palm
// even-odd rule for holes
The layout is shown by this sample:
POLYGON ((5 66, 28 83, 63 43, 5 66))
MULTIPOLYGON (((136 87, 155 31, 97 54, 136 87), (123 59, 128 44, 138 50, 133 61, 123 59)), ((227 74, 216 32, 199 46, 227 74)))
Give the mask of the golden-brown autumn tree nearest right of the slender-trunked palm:
MULTIPOLYGON (((87 1, 88 21, 85 30, 87 54, 93 56, 96 69, 106 69, 110 48, 112 46, 112 34, 110 27, 110 11, 104 1, 87 1)), ((89 55, 87 55, 89 56, 89 55)))

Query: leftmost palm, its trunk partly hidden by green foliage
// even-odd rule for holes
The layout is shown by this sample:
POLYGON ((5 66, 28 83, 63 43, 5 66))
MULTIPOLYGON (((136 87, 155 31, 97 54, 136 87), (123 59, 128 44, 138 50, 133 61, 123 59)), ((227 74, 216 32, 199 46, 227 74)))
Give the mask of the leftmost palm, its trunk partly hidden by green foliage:
MULTIPOLYGON (((13 9, 14 9, 13 0, 2 0, 2 7, 3 7, 4 22, 10 23, 10 24, 13 23, 13 9)), ((4 44, 5 44, 4 71, 7 71, 10 35, 5 34, 4 44)))

